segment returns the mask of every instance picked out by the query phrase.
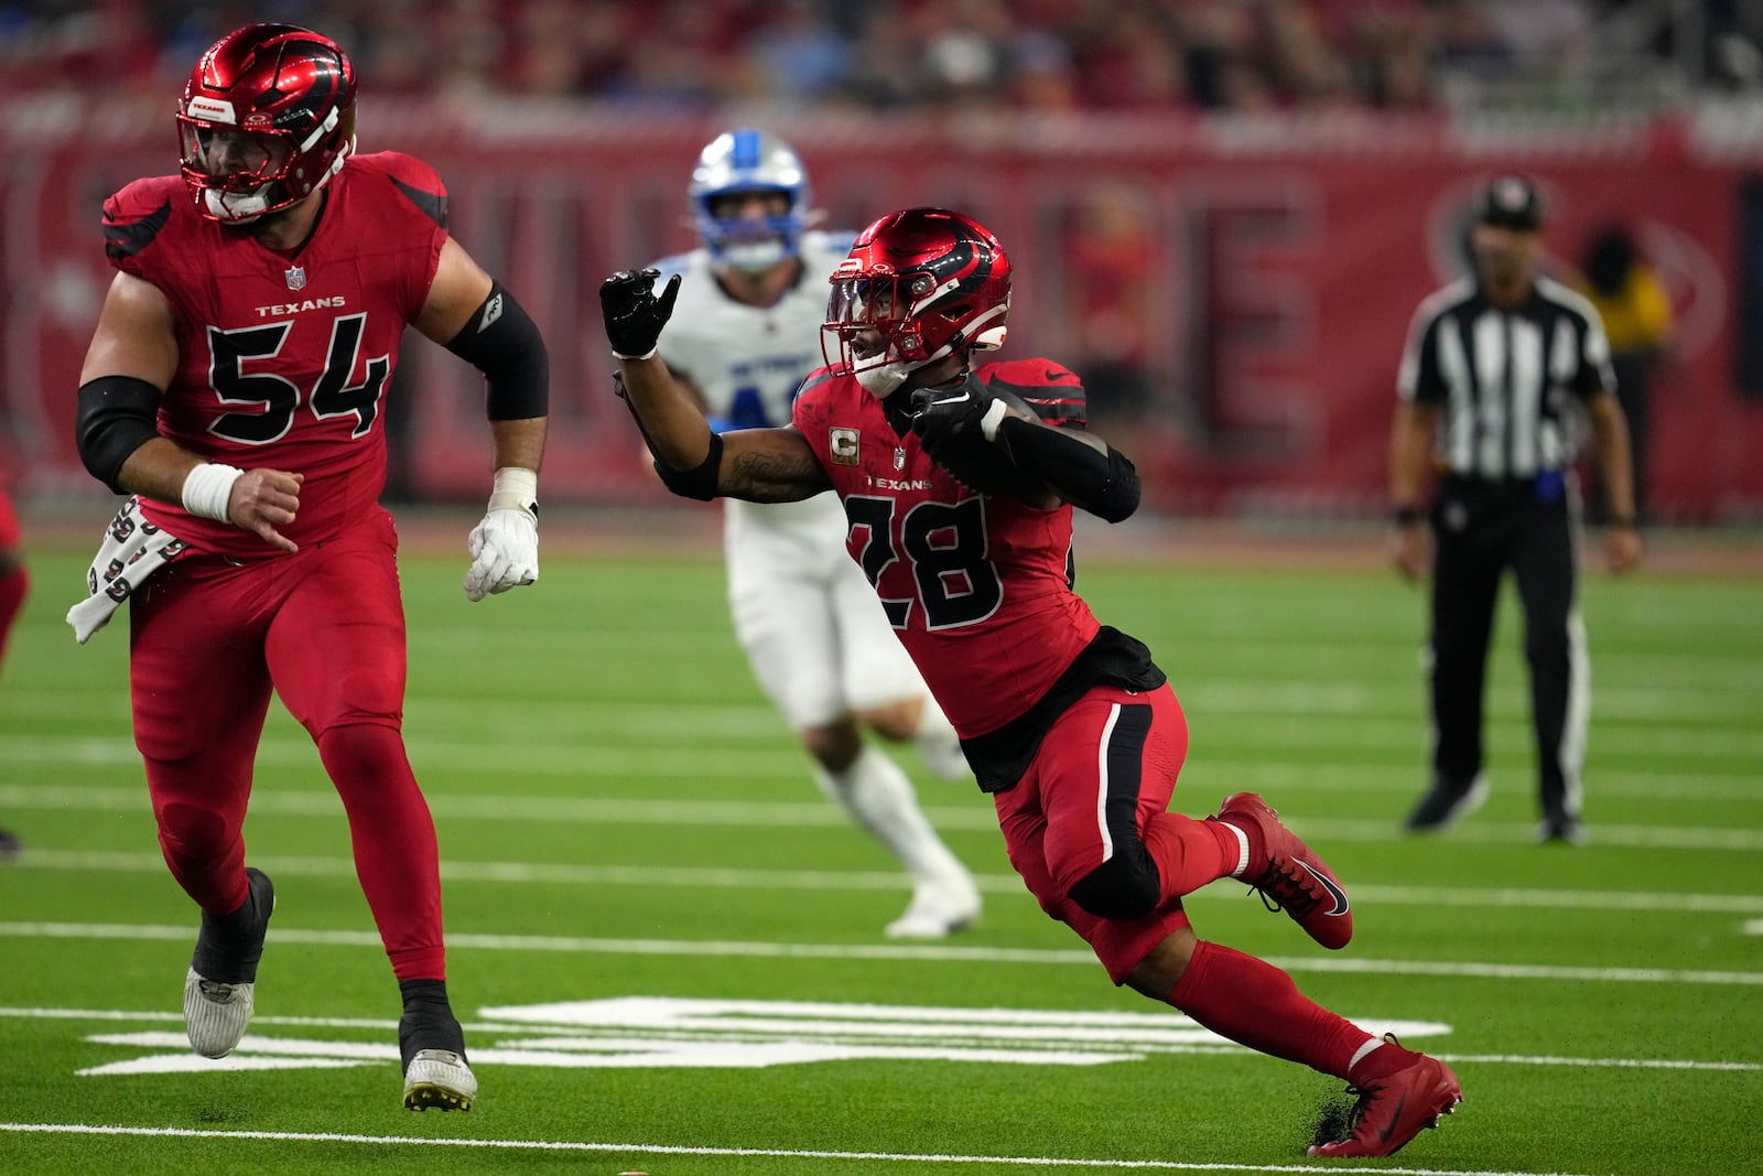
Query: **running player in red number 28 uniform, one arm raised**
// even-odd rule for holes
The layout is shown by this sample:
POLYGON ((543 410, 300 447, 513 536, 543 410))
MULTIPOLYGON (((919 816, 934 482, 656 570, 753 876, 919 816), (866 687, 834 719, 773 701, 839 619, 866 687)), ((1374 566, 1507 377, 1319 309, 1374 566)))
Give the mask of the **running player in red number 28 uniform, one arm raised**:
POLYGON ((1084 430, 1077 376, 973 363, 1003 344, 1010 261, 978 222, 911 208, 871 224, 832 273, 827 367, 790 428, 712 434, 658 358, 677 284, 601 286, 619 379, 663 480, 698 499, 844 501, 852 557, 993 793, 1010 864, 1116 984, 1359 1091, 1350 1137, 1389 1155, 1462 1097, 1440 1061, 1305 998, 1273 964, 1199 940, 1181 897, 1259 889, 1324 947, 1352 936, 1328 866, 1253 793, 1171 813, 1186 721, 1149 651, 1072 591, 1072 508, 1132 515, 1139 480, 1084 430))

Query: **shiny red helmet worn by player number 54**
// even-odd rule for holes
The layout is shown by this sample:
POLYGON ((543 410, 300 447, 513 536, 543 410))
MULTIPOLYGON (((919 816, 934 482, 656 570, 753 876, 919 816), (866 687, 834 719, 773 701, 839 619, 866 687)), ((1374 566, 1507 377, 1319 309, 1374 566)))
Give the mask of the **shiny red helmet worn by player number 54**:
POLYGON ((196 208, 242 224, 324 187, 354 150, 354 65, 298 25, 213 42, 178 102, 180 169, 196 208))

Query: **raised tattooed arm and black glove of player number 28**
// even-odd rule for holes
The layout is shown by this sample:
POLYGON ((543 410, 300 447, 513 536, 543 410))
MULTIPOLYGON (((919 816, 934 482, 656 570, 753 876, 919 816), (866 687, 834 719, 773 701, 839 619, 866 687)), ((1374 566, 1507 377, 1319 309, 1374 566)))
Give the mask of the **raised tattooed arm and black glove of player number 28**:
POLYGON ((619 384, 656 458, 661 481, 695 499, 799 502, 830 490, 827 471, 793 428, 710 432, 703 409, 658 356, 656 342, 673 312, 679 277, 654 293, 656 270, 622 270, 599 287, 606 339, 619 361, 619 384))

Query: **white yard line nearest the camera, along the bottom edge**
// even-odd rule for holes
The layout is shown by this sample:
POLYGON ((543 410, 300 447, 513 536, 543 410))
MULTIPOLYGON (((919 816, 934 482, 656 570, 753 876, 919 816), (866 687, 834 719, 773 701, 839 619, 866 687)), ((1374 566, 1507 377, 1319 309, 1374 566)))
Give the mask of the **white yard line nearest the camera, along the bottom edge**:
POLYGON ((783 1160, 883 1160, 897 1164, 1008 1164, 1037 1171, 1097 1167, 1157 1172, 1396 1172, 1398 1176, 1574 1176, 1569 1172, 1523 1172, 1509 1169, 1454 1167, 1340 1167, 1336 1164, 1194 1164, 1179 1160, 1070 1160, 1026 1155, 913 1155, 899 1151, 816 1151, 793 1148, 681 1148, 673 1144, 582 1143, 552 1139, 411 1139, 404 1135, 346 1135, 342 1132, 236 1132, 185 1127, 95 1127, 88 1123, 0 1123, 0 1132, 48 1135, 139 1135, 155 1139, 261 1139, 266 1143, 342 1143, 409 1148, 478 1148, 485 1151, 594 1151, 645 1155, 776 1157, 783 1160))

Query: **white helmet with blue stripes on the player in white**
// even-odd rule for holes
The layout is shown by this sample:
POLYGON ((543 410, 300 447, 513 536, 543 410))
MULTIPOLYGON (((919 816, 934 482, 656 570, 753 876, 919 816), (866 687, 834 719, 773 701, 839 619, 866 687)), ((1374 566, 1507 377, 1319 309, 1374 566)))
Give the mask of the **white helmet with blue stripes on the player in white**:
POLYGON ((802 247, 807 171, 788 143, 765 130, 726 130, 703 148, 686 189, 698 236, 710 256, 737 270, 765 270, 802 247), (716 201, 735 192, 783 192, 788 206, 763 219, 718 217, 716 201))

